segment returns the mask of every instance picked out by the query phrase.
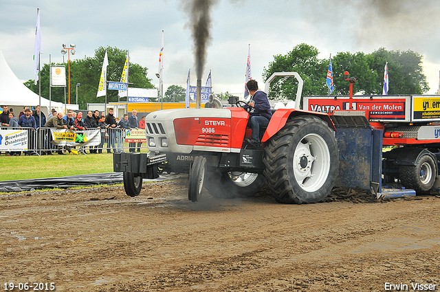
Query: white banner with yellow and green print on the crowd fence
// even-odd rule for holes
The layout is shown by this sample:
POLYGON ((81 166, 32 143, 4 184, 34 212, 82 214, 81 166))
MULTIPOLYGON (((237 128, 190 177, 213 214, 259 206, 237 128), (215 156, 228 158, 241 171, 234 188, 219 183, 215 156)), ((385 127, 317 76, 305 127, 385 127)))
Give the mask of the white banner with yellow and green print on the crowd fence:
POLYGON ((52 144, 57 146, 98 146, 101 144, 100 129, 71 131, 51 128, 52 144))

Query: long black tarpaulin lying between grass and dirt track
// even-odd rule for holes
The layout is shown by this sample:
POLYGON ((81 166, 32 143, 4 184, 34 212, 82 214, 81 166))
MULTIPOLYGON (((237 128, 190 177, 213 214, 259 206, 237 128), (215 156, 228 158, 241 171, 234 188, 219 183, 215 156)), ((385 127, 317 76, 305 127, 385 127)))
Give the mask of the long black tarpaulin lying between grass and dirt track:
MULTIPOLYGON (((144 181, 166 181, 179 175, 160 175, 157 179, 144 181)), ((52 177, 47 179, 20 179, 0 181, 0 192, 21 192, 43 188, 72 188, 77 186, 113 185, 122 183, 122 172, 95 173, 91 175, 72 175, 70 177, 52 177)))

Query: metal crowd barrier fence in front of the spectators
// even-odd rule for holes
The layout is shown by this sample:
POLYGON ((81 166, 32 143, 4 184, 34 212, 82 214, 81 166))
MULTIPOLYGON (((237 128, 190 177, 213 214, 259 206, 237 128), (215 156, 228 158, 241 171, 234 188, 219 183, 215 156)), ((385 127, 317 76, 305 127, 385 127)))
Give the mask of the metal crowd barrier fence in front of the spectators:
MULTIPOLYGON (((52 132, 51 128, 12 128, 12 127, 0 127, 0 146, 3 144, 3 148, 0 149, 0 154, 28 154, 28 155, 46 155, 52 153, 72 152, 72 149, 78 154, 89 153, 113 153, 113 152, 132 152, 147 148, 146 142, 126 142, 126 130, 121 128, 87 128, 87 130, 99 130, 100 131, 100 144, 98 146, 56 146, 52 144, 52 132), (28 150, 12 151, 5 147, 5 137, 2 137, 1 130, 14 130, 14 131, 27 131, 28 137, 28 150)), ((83 131, 76 131, 81 133, 83 131)))

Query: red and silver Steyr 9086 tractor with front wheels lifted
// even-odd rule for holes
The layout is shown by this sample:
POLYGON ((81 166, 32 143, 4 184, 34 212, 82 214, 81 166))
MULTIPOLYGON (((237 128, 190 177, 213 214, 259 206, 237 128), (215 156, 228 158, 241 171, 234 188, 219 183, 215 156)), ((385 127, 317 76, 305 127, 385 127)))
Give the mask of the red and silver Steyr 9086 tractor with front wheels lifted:
POLYGON ((315 203, 331 192, 338 175, 339 153, 329 115, 299 110, 303 80, 295 76, 295 109, 277 109, 261 131, 261 148, 250 149, 245 137, 249 113, 243 102, 223 109, 171 109, 146 116, 150 153, 115 153, 114 170, 124 172, 124 188, 137 196, 142 179, 160 172, 188 172, 188 199, 198 201, 202 188, 215 197, 252 196, 266 183, 281 203, 315 203))

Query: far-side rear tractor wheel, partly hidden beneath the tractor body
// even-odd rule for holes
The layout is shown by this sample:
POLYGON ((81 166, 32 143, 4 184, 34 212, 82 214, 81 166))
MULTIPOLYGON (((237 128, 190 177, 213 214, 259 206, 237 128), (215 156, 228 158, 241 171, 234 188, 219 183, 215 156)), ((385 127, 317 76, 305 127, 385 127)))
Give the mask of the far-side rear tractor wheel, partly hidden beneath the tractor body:
POLYGON ((254 196, 265 183, 263 175, 252 172, 212 172, 205 188, 211 196, 221 199, 254 196))

